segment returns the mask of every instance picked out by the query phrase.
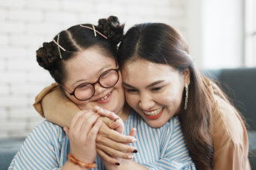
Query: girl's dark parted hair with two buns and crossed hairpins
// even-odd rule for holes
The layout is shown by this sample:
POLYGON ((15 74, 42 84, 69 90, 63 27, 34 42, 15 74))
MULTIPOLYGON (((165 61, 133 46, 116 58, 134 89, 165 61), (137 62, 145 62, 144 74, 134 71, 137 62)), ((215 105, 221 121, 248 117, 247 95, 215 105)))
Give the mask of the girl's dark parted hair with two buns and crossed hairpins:
MULTIPOLYGON (((92 24, 82 24, 82 26, 92 28, 92 24)), ((116 16, 109 16, 108 19, 99 19, 99 25, 94 27, 107 39, 99 35, 99 33, 96 33, 95 36, 92 29, 87 29, 80 25, 71 26, 71 28, 58 34, 59 39, 57 39, 58 35, 54 37, 54 40, 56 42, 59 40, 58 44, 66 51, 59 48, 54 41, 43 42, 43 46, 36 50, 37 63, 45 70, 48 70, 57 83, 64 83, 66 78, 64 61, 71 59, 75 53, 81 50, 99 46, 105 49, 106 53, 109 53, 108 56, 116 58, 117 44, 123 38, 123 25, 119 24, 116 16)))

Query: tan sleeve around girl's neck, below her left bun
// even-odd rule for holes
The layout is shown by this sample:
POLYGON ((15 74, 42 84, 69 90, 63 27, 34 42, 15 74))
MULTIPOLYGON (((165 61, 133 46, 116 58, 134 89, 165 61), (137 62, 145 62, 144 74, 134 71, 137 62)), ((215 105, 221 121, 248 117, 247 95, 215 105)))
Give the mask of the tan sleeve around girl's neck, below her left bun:
POLYGON ((36 96, 33 106, 42 117, 61 127, 69 127, 71 119, 80 111, 77 105, 64 95, 57 83, 44 88, 36 96))

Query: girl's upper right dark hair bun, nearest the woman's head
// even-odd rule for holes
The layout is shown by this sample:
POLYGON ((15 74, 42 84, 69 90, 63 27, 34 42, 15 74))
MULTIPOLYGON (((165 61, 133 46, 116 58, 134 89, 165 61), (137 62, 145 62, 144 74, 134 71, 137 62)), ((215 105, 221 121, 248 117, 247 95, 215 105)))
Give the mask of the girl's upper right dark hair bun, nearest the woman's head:
POLYGON ((102 32, 113 46, 116 46, 123 39, 123 27, 124 25, 120 25, 116 16, 109 16, 108 19, 99 19, 97 30, 102 32))

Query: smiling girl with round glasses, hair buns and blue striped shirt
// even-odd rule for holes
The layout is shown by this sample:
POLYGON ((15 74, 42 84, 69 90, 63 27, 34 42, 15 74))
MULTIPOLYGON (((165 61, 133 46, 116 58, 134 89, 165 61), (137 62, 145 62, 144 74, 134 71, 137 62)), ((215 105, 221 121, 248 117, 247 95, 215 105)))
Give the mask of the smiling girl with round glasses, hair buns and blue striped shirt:
MULTIPOLYGON (((77 164, 95 168, 93 160, 96 149, 102 157, 102 160, 99 157, 96 160, 97 169, 103 169, 103 164, 108 169, 166 168, 167 165, 168 168, 175 169, 195 168, 185 148, 177 117, 168 120, 161 128, 154 129, 133 110, 123 107, 122 77, 119 76, 115 59, 116 44, 121 36, 123 26, 119 26, 116 17, 109 17, 99 20, 99 26, 78 25, 64 30, 54 37, 53 42, 45 42, 37 50, 37 62, 50 71, 54 80, 60 84, 62 92, 82 111, 74 116, 69 130, 64 128, 63 131, 49 121, 36 127, 26 138, 10 169, 67 168, 71 163, 74 163, 75 168, 81 168, 77 164), (117 120, 117 116, 108 110, 95 108, 96 105, 115 112, 119 117, 126 117, 126 135, 112 130, 120 130, 119 126, 113 125, 120 119, 117 120), (99 121, 99 114, 115 120, 115 123, 109 124, 112 129, 106 130, 108 127, 99 121), (142 132, 137 135, 136 142, 133 137, 127 136, 133 127, 142 132), (105 131, 100 133, 102 128, 105 131), (100 140, 95 143, 97 131, 97 138, 104 138, 106 143, 99 143, 100 140), (117 137, 112 141, 122 143, 113 143, 111 138, 106 138, 108 135, 117 137), (147 138, 154 140, 145 142, 147 138), (127 143, 132 144, 126 145, 127 143), (114 162, 119 166, 110 164, 107 159, 106 155, 112 154, 111 148, 119 148, 119 152, 115 152, 116 156, 124 158, 114 162), (138 153, 131 155, 137 149, 138 153), (71 156, 67 161, 69 153, 71 156)), ((134 131, 131 135, 134 135, 134 131)))

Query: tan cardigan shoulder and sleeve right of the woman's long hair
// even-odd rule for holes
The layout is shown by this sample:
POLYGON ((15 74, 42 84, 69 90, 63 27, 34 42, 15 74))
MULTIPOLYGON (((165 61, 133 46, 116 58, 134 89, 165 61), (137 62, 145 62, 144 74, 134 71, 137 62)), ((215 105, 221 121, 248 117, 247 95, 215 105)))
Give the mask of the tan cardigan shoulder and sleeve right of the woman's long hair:
POLYGON ((220 111, 213 112, 213 169, 250 170, 244 122, 226 102, 219 99, 218 104, 220 111))

